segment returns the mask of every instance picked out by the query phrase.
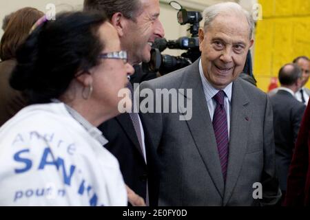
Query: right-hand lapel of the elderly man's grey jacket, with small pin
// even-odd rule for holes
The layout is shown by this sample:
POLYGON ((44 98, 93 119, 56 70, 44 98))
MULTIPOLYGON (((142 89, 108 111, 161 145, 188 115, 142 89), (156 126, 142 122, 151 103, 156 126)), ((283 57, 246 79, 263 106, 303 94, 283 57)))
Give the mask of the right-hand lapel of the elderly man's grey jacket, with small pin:
POLYGON ((243 158, 247 151, 247 137, 251 122, 251 111, 248 108, 249 99, 245 95, 246 91, 243 90, 239 80, 234 81, 231 96, 229 157, 224 206, 231 197, 231 192, 236 185, 242 167, 243 158))

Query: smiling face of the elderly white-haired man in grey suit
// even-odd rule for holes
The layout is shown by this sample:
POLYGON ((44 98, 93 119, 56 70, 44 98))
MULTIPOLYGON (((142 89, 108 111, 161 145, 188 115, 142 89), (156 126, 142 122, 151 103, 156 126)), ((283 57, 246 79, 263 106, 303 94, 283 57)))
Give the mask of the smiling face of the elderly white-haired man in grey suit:
POLYGON ((216 89, 224 89, 242 72, 253 44, 246 17, 219 14, 207 32, 199 30, 199 41, 205 78, 216 89))

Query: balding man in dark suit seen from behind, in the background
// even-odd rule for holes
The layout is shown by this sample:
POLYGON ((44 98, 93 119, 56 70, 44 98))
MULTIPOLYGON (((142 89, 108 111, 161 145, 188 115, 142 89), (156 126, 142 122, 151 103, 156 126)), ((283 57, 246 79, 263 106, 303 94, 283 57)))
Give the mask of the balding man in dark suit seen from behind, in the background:
POLYGON ((276 171, 283 201, 287 190, 289 164, 291 164, 298 129, 306 106, 295 98, 295 93, 300 89, 302 82, 302 72, 298 65, 295 63, 284 65, 279 71, 278 78, 281 87, 271 96, 270 101, 273 109, 276 171))

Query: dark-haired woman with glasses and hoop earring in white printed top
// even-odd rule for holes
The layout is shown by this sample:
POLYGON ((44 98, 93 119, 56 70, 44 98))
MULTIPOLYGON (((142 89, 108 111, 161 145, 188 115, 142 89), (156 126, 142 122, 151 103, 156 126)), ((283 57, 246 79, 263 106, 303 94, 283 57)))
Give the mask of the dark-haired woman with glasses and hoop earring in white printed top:
POLYGON ((134 72, 115 28, 90 12, 34 26, 10 78, 30 105, 0 129, 0 206, 126 206, 132 193, 96 129, 134 72))

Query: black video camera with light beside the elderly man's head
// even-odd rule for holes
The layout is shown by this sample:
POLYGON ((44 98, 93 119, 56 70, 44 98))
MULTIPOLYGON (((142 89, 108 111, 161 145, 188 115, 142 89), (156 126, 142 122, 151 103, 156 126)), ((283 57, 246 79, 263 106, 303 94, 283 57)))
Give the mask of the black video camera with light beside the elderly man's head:
POLYGON ((203 19, 202 15, 200 12, 185 10, 176 1, 171 1, 169 4, 178 10, 177 19, 180 25, 189 23, 191 37, 183 36, 175 41, 156 39, 151 50, 151 60, 149 63, 142 64, 143 72, 160 72, 161 75, 164 75, 186 67, 200 57, 198 30, 199 22, 203 19), (166 48, 187 50, 187 52, 181 54, 181 56, 161 54, 166 48))

